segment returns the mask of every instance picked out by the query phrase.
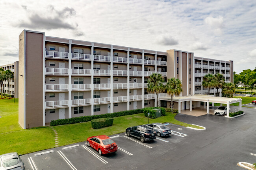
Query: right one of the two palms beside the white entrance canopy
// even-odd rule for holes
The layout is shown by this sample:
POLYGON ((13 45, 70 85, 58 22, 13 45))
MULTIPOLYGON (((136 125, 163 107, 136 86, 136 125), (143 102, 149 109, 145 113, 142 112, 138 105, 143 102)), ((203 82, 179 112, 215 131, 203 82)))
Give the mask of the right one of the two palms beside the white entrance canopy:
POLYGON ((167 93, 171 95, 171 108, 173 114, 173 95, 179 95, 182 92, 182 83, 179 79, 171 78, 167 80, 165 88, 167 93))

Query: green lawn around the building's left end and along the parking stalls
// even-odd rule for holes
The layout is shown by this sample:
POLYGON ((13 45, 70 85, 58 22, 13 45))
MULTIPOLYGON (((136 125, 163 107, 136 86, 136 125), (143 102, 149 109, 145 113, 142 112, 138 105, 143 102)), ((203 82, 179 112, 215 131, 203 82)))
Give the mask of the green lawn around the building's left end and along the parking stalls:
MULTIPOLYGON (((39 150, 45 150, 55 147, 55 134, 48 127, 38 127, 31 129, 22 129, 18 123, 18 99, 0 99, 0 155, 8 152, 17 152, 19 154, 28 154, 39 150)), ((149 119, 149 122, 170 122, 181 126, 190 126, 174 119, 176 114, 167 112, 164 117, 149 119)), ((94 130, 91 122, 77 124, 54 126, 58 132, 59 146, 85 141, 87 137, 93 135, 114 135, 125 132, 129 126, 147 124, 148 118, 143 113, 115 117, 113 126, 94 130)))

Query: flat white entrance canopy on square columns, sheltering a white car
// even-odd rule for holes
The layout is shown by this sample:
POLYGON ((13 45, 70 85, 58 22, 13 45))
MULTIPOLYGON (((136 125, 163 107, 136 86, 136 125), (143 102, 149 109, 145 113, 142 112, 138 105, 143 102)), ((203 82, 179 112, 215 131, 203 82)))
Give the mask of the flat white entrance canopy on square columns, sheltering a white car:
MULTIPOLYGON (((171 101, 171 96, 159 97, 162 101, 171 101)), ((242 99, 240 98, 228 98, 228 97, 214 97, 213 95, 188 95, 173 97, 173 101, 178 102, 178 110, 181 112, 181 102, 190 101, 189 110, 192 111, 192 101, 206 102, 207 114, 209 114, 210 102, 220 103, 227 105, 227 117, 229 117, 230 104, 239 102, 239 110, 242 110, 242 99)))

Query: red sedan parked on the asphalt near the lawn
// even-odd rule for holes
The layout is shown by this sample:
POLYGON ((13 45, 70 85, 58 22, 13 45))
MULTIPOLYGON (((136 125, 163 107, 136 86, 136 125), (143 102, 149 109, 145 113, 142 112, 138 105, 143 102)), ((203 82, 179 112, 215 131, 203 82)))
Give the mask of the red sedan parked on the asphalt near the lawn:
POLYGON ((117 152, 117 144, 106 135, 88 137, 86 144, 98 151, 100 155, 117 152))

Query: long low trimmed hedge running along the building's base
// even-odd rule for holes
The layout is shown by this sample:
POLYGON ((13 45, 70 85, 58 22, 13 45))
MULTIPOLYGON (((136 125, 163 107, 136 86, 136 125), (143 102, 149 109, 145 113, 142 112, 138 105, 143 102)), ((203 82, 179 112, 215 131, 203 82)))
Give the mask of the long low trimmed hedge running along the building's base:
POLYGON ((106 113, 102 115, 92 115, 92 116, 81 116, 81 117, 72 117, 70 119, 58 119, 52 120, 50 122, 51 126, 58 126, 63 124, 73 124, 73 123, 80 123, 80 122, 89 122, 93 119, 100 119, 106 117, 119 117, 119 116, 126 116, 126 115, 134 115, 137 113, 143 113, 143 109, 136 109, 136 110, 127 110, 122 112, 115 112, 115 113, 106 113))

